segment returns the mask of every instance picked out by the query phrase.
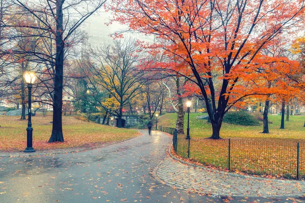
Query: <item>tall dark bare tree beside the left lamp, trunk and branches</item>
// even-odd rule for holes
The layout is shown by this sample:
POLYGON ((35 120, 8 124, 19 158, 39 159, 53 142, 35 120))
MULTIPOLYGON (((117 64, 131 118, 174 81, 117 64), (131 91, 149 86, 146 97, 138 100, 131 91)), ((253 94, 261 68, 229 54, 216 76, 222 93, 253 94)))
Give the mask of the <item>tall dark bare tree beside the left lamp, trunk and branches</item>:
MULTIPOLYGON (((63 108, 63 82, 64 61, 66 49, 73 45, 71 36, 79 26, 92 14, 94 14, 106 0, 39 0, 25 1, 13 0, 17 10, 11 11, 12 15, 20 15, 20 18, 31 16, 32 24, 27 21, 15 24, 12 21, 2 21, 1 27, 24 27, 28 32, 24 36, 34 36, 37 43, 43 40, 48 44, 54 41, 55 52, 41 52, 32 50, 28 55, 35 56, 32 61, 48 62, 54 67, 53 78, 53 126, 48 142, 64 142, 62 127, 63 108), (43 40, 42 40, 43 39, 43 40)), ((12 50, 6 50, 2 54, 14 54, 12 50)))

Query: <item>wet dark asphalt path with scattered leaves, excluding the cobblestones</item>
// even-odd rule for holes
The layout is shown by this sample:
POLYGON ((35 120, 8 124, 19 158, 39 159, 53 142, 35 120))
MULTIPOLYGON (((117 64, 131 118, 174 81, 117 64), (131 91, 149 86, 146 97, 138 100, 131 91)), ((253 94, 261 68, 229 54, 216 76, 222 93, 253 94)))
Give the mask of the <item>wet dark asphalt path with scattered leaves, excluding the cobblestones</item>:
POLYGON ((219 198, 177 190, 151 172, 171 137, 153 131, 78 153, 0 158, 0 202, 208 202, 219 198))

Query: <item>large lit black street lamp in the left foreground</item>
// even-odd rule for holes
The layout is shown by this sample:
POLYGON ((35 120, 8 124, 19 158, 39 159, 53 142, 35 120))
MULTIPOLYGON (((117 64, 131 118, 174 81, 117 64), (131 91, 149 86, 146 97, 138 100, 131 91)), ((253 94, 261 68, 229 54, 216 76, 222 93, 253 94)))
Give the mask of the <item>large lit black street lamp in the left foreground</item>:
POLYGON ((31 96, 32 86, 36 80, 36 74, 31 71, 27 71, 23 74, 24 80, 27 83, 28 88, 28 122, 26 128, 26 148, 24 152, 35 152, 33 148, 33 128, 32 128, 32 111, 31 111, 31 96))

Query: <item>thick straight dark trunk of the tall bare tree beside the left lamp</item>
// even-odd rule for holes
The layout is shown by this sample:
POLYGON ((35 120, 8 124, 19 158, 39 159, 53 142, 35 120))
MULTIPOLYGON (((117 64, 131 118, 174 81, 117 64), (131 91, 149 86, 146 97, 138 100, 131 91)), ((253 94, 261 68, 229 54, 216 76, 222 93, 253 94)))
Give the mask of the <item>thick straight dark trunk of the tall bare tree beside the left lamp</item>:
POLYGON ((56 57, 53 100, 53 126, 49 143, 64 142, 62 108, 64 80, 63 1, 56 1, 56 57))

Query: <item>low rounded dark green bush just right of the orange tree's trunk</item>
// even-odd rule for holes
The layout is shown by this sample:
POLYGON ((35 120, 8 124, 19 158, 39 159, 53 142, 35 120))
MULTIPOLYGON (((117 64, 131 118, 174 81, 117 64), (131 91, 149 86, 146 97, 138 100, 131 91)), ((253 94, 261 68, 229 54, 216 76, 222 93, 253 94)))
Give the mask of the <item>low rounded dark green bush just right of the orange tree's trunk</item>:
POLYGON ((224 122, 235 125, 261 125, 259 120, 246 111, 228 112, 224 117, 224 122))

